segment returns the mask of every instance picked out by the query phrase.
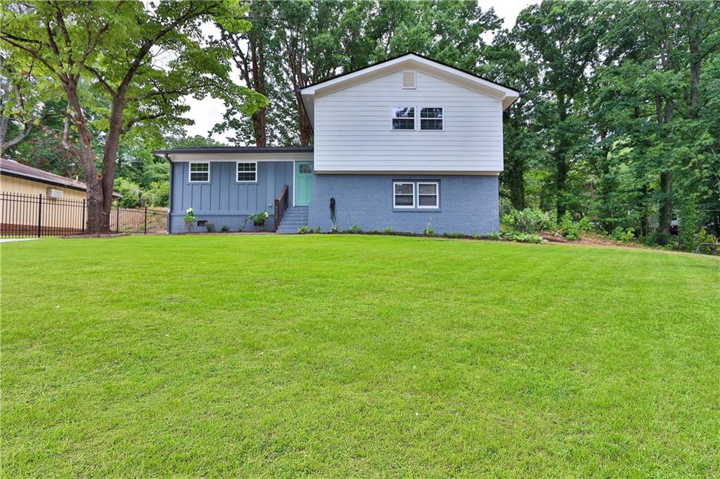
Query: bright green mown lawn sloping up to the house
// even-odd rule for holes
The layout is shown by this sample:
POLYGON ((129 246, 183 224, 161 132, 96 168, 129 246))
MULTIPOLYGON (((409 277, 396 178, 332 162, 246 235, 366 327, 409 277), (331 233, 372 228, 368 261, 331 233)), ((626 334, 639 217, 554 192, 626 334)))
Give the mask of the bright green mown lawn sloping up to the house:
POLYGON ((2 466, 720 474, 720 260, 370 236, 2 245, 2 466))

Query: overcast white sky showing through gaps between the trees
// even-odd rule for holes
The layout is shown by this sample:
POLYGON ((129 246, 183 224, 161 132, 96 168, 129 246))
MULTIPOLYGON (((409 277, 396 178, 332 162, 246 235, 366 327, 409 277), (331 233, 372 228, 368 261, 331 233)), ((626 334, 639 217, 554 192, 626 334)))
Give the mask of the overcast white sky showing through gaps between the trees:
MULTIPOLYGON (((480 7, 483 10, 494 8, 495 14, 504 20, 503 27, 510 29, 515 25, 515 19, 518 17, 518 14, 522 9, 530 4, 536 4, 538 2, 528 0, 478 0, 477 3, 480 4, 480 7)), ((208 24, 205 34, 215 35, 217 37, 217 30, 215 29, 215 26, 208 24)), ((492 34, 485 35, 483 40, 488 43, 492 42, 492 34)), ((184 116, 195 120, 194 125, 186 127, 187 134, 191 136, 196 134, 207 136, 210 129, 212 129, 216 123, 222 121, 222 114, 225 112, 225 106, 223 106, 222 101, 212 99, 208 96, 203 100, 196 100, 192 97, 188 97, 185 102, 190 106, 190 111, 184 114, 184 116)), ((215 140, 225 140, 224 137, 217 134, 213 136, 215 137, 215 140)))

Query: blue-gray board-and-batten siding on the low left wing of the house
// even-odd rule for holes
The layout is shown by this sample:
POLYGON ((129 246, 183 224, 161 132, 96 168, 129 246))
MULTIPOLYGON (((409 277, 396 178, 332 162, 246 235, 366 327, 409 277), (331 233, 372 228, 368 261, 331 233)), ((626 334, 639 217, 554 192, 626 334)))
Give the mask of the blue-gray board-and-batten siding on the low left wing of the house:
MULTIPOLYGON (((249 161, 249 160, 248 160, 249 161)), ((270 217, 265 229, 272 229, 274 222, 274 201, 287 185, 292 204, 292 161, 258 161, 258 181, 238 183, 234 161, 210 161, 210 182, 190 183, 189 163, 171 163, 170 211, 168 227, 171 233, 185 232, 183 216, 192 208, 198 220, 215 223, 218 231, 227 225, 230 231, 245 227, 253 230, 246 222, 248 214, 268 211, 270 217)), ((194 224, 194 232, 205 231, 205 227, 194 224)))

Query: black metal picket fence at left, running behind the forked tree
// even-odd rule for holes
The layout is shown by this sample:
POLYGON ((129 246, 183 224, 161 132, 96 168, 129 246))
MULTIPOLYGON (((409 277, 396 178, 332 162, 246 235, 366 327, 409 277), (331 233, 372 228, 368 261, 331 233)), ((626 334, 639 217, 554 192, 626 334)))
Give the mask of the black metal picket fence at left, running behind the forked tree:
MULTIPOLYGON (((85 200, 48 198, 42 194, 0 193, 0 237, 41 237, 84 234, 85 200)), ((167 232, 163 209, 112 207, 110 229, 117 233, 167 232)))

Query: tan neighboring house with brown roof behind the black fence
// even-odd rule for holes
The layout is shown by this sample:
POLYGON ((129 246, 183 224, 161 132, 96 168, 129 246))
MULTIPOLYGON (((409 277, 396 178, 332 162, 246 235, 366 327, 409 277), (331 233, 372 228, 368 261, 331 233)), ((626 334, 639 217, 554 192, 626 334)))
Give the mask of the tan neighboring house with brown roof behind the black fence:
MULTIPOLYGON (((122 198, 120 193, 112 195, 122 198)), ((80 231, 85 198, 81 181, 0 158, 0 228, 6 233, 36 232, 39 214, 43 232, 80 231)))

